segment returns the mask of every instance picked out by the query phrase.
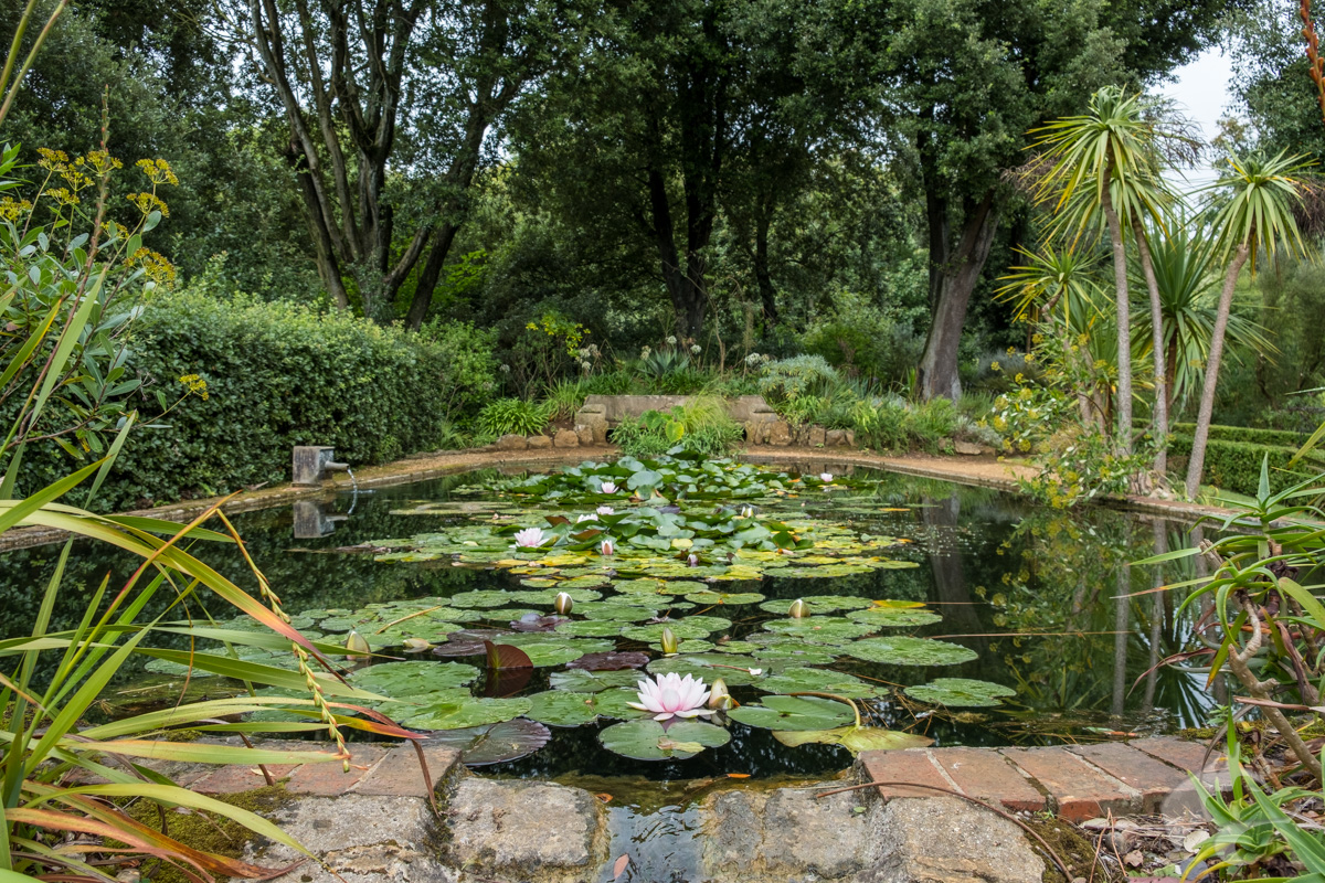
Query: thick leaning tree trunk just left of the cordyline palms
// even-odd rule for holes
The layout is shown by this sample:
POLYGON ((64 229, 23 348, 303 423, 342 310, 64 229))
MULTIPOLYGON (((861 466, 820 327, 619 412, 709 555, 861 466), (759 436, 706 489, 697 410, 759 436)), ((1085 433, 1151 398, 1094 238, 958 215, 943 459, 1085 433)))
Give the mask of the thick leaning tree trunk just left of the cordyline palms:
POLYGON ((934 314, 918 365, 920 393, 926 401, 939 396, 955 401, 962 395, 962 381, 957 373, 957 348, 962 342, 962 327, 966 324, 971 293, 980 279, 980 271, 994 245, 994 234, 998 232, 994 193, 988 192, 967 214, 957 250, 951 257, 943 256, 946 259, 942 259, 935 270, 934 249, 946 250, 946 245, 939 244, 938 237, 933 234, 935 224, 945 226, 947 224, 946 212, 942 214, 942 218, 930 217, 930 293, 934 298, 934 314))

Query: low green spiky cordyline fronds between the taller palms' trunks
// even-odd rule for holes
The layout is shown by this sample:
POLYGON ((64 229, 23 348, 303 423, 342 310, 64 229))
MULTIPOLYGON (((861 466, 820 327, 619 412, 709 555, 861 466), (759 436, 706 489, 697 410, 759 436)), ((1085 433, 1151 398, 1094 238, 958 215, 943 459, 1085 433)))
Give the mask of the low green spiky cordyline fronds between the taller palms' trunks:
MULTIPOLYGON (((1169 225, 1169 234, 1149 232, 1150 257, 1159 289, 1161 324, 1158 340, 1163 351, 1167 412, 1181 409, 1200 379, 1210 357, 1218 319, 1218 291, 1223 273, 1215 257, 1215 242, 1191 234, 1182 218, 1169 225)), ((1133 267, 1140 273, 1140 267, 1133 267)), ((1265 336, 1265 328, 1244 316, 1230 315, 1226 340, 1230 349, 1279 352, 1265 336)), ((1154 320, 1132 327, 1133 352, 1154 346, 1154 320)))

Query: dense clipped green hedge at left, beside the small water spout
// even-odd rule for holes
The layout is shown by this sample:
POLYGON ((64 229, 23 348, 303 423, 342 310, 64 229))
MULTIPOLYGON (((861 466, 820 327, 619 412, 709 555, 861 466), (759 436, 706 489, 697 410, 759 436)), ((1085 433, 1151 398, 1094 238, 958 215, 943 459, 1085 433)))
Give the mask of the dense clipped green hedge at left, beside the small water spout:
MULTIPOLYGON (((146 380, 140 413, 159 413, 158 389, 170 402, 179 398, 186 375, 207 383, 207 397, 184 398, 164 418, 167 428, 130 436, 98 496, 103 511, 288 481, 295 445, 333 445, 337 459, 352 466, 436 449, 456 402, 481 401, 490 391, 482 372, 470 369, 470 384, 488 388, 457 393, 454 335, 431 343, 289 302, 171 293, 147 304, 132 335, 130 364, 146 380)), ((485 343, 476 334, 470 348, 485 343)), ((54 446, 30 451, 21 490, 69 466, 54 446)), ((80 502, 77 492, 70 502, 80 502)))

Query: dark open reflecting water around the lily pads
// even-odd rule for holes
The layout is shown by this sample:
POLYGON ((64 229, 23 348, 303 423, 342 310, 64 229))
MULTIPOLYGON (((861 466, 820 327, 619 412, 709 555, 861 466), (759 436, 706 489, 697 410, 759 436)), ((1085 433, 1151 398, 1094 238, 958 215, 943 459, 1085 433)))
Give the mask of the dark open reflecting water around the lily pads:
MULTIPOLYGON (((833 463, 810 469, 851 471, 833 463)), ((437 522, 392 515, 392 510, 449 499, 457 486, 494 477, 470 474, 386 488, 360 498, 347 519, 343 500, 329 496, 241 514, 235 522, 292 613, 514 586, 511 575, 456 568, 447 561, 387 565, 372 561, 370 555, 337 552, 370 539, 427 531, 437 522)), ((918 568, 812 581, 770 576, 758 584, 723 588, 757 590, 788 604, 815 593, 928 601, 943 618, 917 633, 959 642, 978 654, 975 661, 917 669, 841 659, 835 667, 892 684, 965 676, 1018 691, 1015 699, 995 710, 939 711, 920 719, 914 716, 918 706, 898 695, 871 710, 884 725, 925 732, 941 745, 1088 740, 1199 724, 1222 698, 1204 688, 1202 658, 1183 666, 1157 665, 1202 649, 1192 629, 1199 612, 1179 612, 1182 594, 1149 592, 1191 579, 1199 559, 1149 568, 1130 565, 1190 544, 1192 536, 1186 526, 1100 507, 1045 510, 999 491, 938 481, 902 475, 881 479, 869 494, 816 498, 806 500, 804 508, 808 514, 831 512, 871 534, 909 540, 898 557, 916 561, 918 568)), ((216 545, 195 551, 240 585, 256 589, 236 549, 216 545)), ((42 547, 0 556, 0 609, 11 622, 32 622, 38 598, 32 586, 49 579, 57 555, 58 547, 42 547)), ((77 544, 68 567, 68 590, 54 613, 56 626, 77 622, 87 597, 85 589, 94 588, 107 573, 114 586, 134 565, 127 556, 103 547, 77 544)), ((217 618, 233 616, 215 601, 208 606, 217 618)), ((201 616, 196 601, 189 602, 188 613, 201 616)), ((754 609, 734 609, 731 614, 735 638, 758 630, 758 617, 765 616, 754 609)), ((182 645, 184 639, 160 635, 158 643, 167 646, 171 641, 182 645)), ((132 674, 126 670, 125 676, 132 674)), ((749 698, 753 695, 738 696, 749 698)), ((594 728, 558 731, 550 745, 555 751, 519 761, 523 767, 511 772, 555 776, 592 770, 602 760, 595 737, 594 728)), ((674 769, 641 764, 640 772, 655 777, 761 770, 816 774, 847 763, 849 756, 841 749, 808 745, 787 752, 766 731, 746 731, 729 747, 704 752, 674 769)))

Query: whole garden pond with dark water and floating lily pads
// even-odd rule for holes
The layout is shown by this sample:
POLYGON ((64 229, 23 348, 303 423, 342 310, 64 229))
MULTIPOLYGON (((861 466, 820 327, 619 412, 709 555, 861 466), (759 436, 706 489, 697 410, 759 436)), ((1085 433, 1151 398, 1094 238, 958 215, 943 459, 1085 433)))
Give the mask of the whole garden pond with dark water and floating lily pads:
MULTIPOLYGON (((380 655, 351 674, 401 700, 380 711, 504 776, 816 776, 848 767, 848 747, 1151 735, 1204 723, 1216 702, 1202 670, 1158 665, 1198 646, 1194 613, 1181 593, 1146 590, 1190 564, 1129 567, 1187 545, 1189 528, 1102 507, 832 462, 619 461, 339 494, 235 523, 297 626, 337 645, 352 630, 380 655), (627 704, 668 673, 705 691, 721 678, 730 707, 659 724, 627 704)), ((0 556, 12 626, 30 624, 58 551, 0 556)), ((254 588, 236 549, 204 556, 254 588)), ((77 545, 57 626, 130 567, 77 545)), ((209 614, 232 620, 221 606, 209 614)), ((126 670, 101 711, 184 683, 175 663, 146 669, 126 670)), ((235 687, 195 671, 189 690, 235 687)))

